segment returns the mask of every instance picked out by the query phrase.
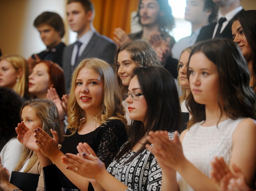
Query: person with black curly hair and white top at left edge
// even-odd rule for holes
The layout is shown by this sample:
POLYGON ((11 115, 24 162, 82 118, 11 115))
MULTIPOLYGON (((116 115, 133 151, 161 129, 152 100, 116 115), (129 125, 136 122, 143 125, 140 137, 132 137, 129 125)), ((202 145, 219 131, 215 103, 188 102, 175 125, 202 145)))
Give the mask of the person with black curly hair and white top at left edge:
POLYGON ((15 127, 21 120, 21 106, 20 95, 11 88, 0 87, 0 156, 2 165, 10 173, 18 164, 24 148, 15 132, 15 127))

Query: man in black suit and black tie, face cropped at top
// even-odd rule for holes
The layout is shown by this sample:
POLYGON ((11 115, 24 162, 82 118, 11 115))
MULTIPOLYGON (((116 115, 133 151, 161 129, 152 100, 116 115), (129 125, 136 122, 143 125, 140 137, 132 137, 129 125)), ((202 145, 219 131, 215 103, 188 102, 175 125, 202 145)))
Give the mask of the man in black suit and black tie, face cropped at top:
POLYGON ((219 7, 219 16, 217 22, 202 27, 196 42, 205 41, 213 38, 232 39, 232 31, 230 21, 240 11, 244 11, 240 5, 240 0, 213 0, 219 7), (218 31, 219 21, 221 18, 226 19, 223 22, 220 33, 218 31))

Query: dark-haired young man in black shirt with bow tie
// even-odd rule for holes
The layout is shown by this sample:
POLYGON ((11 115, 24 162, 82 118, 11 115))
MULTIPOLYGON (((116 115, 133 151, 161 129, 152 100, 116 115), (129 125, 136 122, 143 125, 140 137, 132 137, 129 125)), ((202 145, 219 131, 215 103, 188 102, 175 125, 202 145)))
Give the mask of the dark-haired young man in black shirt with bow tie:
POLYGON ((43 12, 34 21, 34 27, 40 33, 40 37, 46 46, 46 50, 33 54, 27 61, 29 69, 40 60, 51 60, 62 66, 62 54, 66 45, 61 42, 65 34, 62 18, 54 12, 43 12))

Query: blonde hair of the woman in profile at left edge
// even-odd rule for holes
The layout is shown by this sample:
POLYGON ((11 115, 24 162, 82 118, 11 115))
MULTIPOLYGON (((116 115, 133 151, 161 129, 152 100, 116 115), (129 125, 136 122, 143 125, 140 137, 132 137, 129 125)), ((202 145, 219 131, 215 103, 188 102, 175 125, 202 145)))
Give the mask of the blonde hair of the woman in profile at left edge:
POLYGON ((28 62, 20 55, 8 54, 2 56, 0 60, 6 60, 11 63, 11 65, 16 69, 22 69, 22 75, 17 80, 14 91, 21 97, 24 95, 28 96, 28 62))

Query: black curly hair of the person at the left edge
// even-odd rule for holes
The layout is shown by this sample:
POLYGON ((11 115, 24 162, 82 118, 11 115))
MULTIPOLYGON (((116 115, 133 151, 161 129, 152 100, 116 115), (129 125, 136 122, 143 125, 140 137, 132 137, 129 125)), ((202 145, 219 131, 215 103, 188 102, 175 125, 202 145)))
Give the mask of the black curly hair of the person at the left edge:
POLYGON ((21 97, 12 89, 0 87, 0 151, 17 136, 15 127, 20 123, 21 97))

